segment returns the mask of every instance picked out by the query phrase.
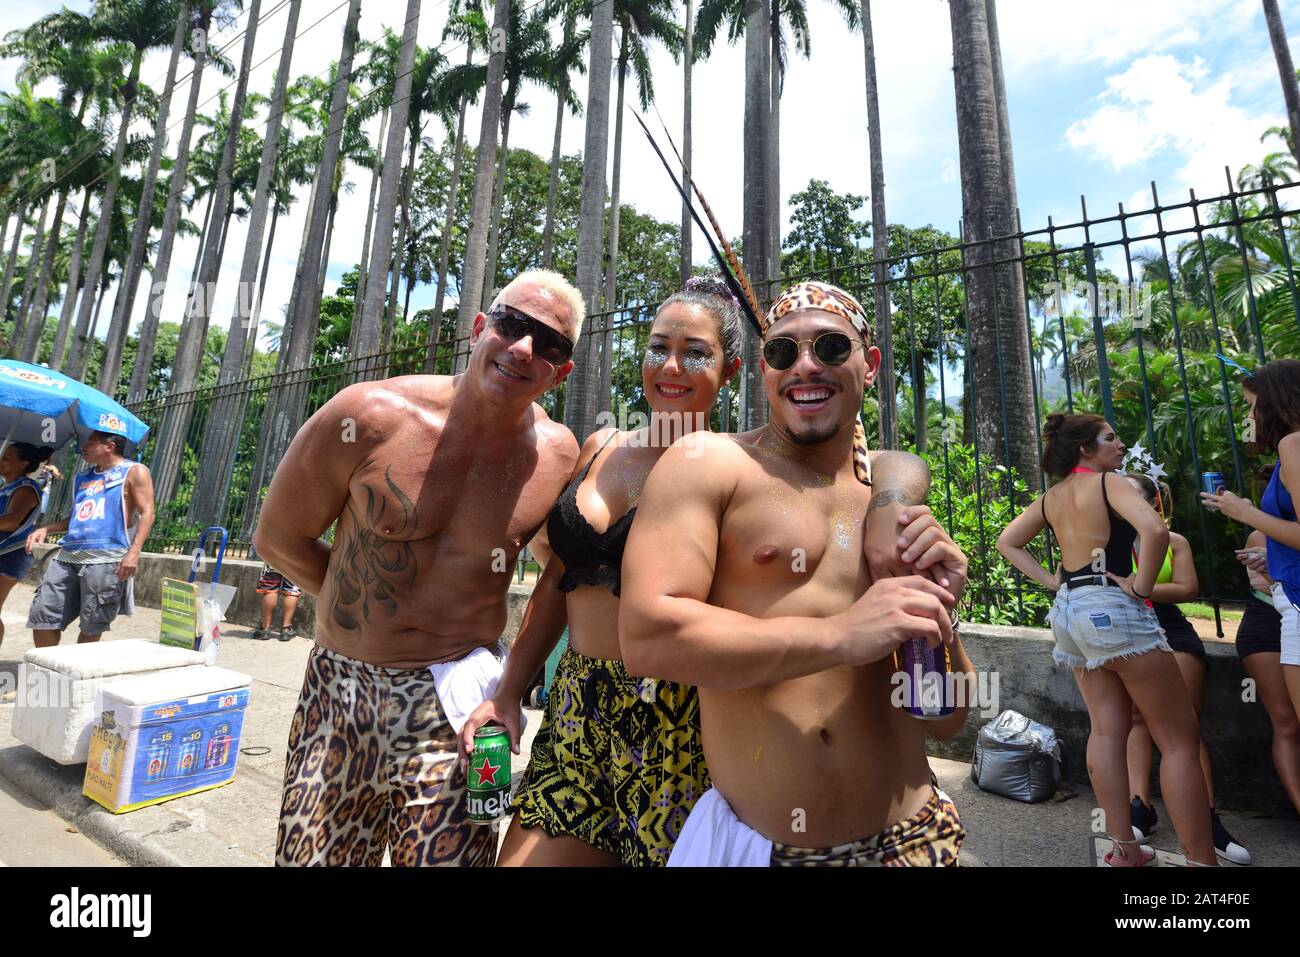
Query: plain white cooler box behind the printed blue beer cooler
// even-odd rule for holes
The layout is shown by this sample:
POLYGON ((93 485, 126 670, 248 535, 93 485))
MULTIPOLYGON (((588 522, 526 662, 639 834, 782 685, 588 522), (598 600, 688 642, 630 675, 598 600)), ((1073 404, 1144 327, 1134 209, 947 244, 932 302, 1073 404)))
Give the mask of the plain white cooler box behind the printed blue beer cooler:
POLYGON ((100 687, 114 679, 160 671, 202 670, 200 651, 124 638, 34 648, 18 667, 13 736, 60 765, 81 765, 99 714, 100 687))

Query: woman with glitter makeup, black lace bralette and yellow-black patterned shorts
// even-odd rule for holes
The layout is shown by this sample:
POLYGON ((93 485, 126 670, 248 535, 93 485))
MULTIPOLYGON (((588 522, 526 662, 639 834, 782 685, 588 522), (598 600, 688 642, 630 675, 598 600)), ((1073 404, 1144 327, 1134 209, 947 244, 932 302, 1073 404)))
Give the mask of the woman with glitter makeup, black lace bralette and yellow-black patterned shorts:
MULTIPOLYGON (((740 308, 718 280, 694 278, 659 307, 641 367, 645 428, 594 432, 542 527, 551 553, 495 694, 462 728, 484 724, 519 750, 519 702, 568 624, 569 646, 498 857, 517 865, 659 865, 708 787, 696 689, 633 677, 619 651, 623 546, 659 455, 708 428, 740 369, 740 308)), ((542 536, 540 536, 542 537, 542 536)))

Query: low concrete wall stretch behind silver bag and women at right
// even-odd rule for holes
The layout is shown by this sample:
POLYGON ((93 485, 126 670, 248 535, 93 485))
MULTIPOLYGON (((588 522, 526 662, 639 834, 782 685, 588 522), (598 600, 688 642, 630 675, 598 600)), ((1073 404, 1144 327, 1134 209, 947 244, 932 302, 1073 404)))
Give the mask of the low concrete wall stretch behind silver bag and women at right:
MULTIPOLYGON (((1067 780, 1087 783, 1088 711, 1066 667, 1052 661, 1052 635, 1043 628, 962 623, 962 642, 978 671, 998 676, 998 707, 1010 709, 1056 729, 1067 780)), ((1273 726, 1258 701, 1244 702, 1247 675, 1230 644, 1208 641, 1209 671, 1201 710, 1201 735, 1210 753, 1219 807, 1295 818, 1295 809, 1273 770, 1273 726)), ((979 728, 992 718, 972 713, 959 735, 931 741, 930 753, 970 761, 979 728)), ((1160 793, 1160 757, 1152 787, 1160 793)))

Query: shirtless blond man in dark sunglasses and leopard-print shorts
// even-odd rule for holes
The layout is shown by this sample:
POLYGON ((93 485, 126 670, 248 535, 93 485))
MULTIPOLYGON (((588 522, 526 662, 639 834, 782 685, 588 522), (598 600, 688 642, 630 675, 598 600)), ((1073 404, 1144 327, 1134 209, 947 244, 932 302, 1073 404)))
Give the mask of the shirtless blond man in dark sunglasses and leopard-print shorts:
POLYGON ((494 862, 456 729, 500 674, 486 649, 515 558, 577 458, 534 400, 573 368, 582 319, 560 276, 524 273, 474 317, 462 374, 350 386, 295 436, 254 536, 317 597, 278 865, 494 862))

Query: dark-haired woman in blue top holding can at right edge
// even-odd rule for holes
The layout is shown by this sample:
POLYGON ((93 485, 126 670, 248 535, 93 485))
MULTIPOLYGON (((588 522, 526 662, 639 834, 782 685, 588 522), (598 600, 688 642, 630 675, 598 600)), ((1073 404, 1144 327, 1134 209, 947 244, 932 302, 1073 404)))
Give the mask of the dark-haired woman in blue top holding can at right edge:
POLYGON ((1256 508, 1225 492, 1201 493, 1205 505, 1268 536, 1273 605, 1282 618, 1282 676, 1291 705, 1300 714, 1300 521, 1294 495, 1300 494, 1300 360, 1278 359, 1261 365, 1242 384, 1251 403, 1251 426, 1262 449, 1277 450, 1278 464, 1256 508))

